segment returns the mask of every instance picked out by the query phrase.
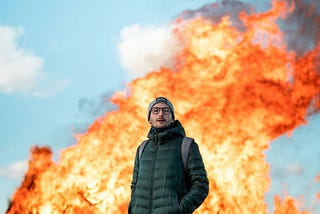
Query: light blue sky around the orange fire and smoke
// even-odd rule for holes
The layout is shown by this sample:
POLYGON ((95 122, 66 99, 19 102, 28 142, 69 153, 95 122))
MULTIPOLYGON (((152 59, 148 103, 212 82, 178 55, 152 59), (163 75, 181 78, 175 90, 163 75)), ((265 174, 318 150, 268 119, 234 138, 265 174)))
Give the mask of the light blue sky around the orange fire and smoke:
MULTIPOLYGON (((108 98, 137 77, 117 49, 124 29, 161 29, 182 11, 214 1, 109 2, 1 1, 0 213, 21 183, 31 146, 49 145, 57 158, 75 143, 74 133, 114 108, 108 98)), ((268 1, 255 4, 261 9, 268 1)), ((273 181, 266 200, 285 191, 320 192, 312 183, 320 174, 320 116, 308 121, 266 152, 273 181)))

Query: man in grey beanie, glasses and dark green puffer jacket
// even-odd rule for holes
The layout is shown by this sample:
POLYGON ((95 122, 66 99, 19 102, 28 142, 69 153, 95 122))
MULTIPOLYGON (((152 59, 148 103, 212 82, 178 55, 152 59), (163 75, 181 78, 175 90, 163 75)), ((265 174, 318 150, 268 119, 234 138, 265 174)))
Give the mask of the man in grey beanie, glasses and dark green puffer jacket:
POLYGON ((148 121, 148 141, 143 151, 139 146, 134 162, 129 214, 192 213, 209 191, 198 145, 191 143, 185 169, 181 155, 185 131, 164 97, 150 103, 148 121))

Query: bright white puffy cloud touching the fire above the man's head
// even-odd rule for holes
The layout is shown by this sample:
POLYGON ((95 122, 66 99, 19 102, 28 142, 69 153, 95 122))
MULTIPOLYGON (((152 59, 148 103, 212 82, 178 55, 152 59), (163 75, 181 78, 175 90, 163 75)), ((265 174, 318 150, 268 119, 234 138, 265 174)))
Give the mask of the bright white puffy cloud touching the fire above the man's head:
POLYGON ((174 56, 181 44, 172 32, 173 26, 131 25, 121 31, 118 53, 130 78, 142 77, 160 67, 174 68, 174 56))

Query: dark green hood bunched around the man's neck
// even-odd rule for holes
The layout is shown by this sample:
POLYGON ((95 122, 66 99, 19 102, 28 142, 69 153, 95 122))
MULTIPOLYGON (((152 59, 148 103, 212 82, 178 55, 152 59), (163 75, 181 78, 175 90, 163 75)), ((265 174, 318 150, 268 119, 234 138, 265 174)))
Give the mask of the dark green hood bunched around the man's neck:
POLYGON ((159 142, 160 144, 172 138, 185 136, 186 133, 179 120, 175 120, 172 124, 165 128, 159 129, 151 127, 148 133, 148 138, 150 140, 152 140, 153 142, 159 142))

